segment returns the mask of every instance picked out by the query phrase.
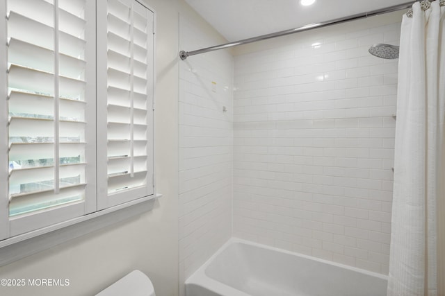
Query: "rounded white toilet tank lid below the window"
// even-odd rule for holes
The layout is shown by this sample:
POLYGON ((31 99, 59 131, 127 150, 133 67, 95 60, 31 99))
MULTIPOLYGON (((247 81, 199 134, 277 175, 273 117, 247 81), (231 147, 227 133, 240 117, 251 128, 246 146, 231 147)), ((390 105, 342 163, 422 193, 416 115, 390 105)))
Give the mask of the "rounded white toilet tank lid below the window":
POLYGON ((96 296, 154 296, 152 281, 140 270, 133 270, 96 296))

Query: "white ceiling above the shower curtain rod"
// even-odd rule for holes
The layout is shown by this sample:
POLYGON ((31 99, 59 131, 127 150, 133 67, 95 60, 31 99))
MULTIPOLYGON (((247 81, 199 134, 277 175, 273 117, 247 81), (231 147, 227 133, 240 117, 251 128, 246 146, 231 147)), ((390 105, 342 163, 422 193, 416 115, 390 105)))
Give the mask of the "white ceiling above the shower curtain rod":
POLYGON ((408 0, 186 0, 229 42, 330 21, 408 0))

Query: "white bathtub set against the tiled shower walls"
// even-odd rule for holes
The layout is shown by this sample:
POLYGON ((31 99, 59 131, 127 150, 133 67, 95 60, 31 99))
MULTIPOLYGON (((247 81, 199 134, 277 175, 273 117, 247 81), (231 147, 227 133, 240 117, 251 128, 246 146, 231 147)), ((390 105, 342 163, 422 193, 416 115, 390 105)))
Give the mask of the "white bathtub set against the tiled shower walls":
POLYGON ((387 277, 231 238, 186 282, 186 296, 384 296, 387 277))

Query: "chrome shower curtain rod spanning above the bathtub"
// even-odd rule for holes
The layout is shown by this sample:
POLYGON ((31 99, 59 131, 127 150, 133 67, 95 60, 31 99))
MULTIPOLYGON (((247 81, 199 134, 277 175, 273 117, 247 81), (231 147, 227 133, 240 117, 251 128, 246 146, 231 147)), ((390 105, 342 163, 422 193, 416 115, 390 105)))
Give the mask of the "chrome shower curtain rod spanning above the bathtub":
POLYGON ((229 42, 229 43, 225 43, 225 44, 211 46, 211 47, 207 47, 205 49, 197 49, 196 51, 180 51, 179 58, 181 58, 181 60, 186 60, 186 58, 188 58, 191 55, 199 55, 200 53, 207 53, 209 51, 218 51, 220 49, 228 49, 230 47, 234 47, 234 46, 238 46, 238 45, 248 44, 248 43, 257 42, 257 41, 266 40, 266 39, 275 38, 275 37, 280 37, 280 36, 284 36, 284 35, 290 35, 290 34, 299 33, 299 32, 303 32, 303 31, 309 31, 314 28, 323 28, 323 27, 332 26, 335 24, 346 23, 347 21, 355 21, 356 19, 364 19, 366 17, 373 17, 375 15, 382 15, 387 12, 394 12, 394 11, 410 8, 412 6, 412 4, 414 4, 416 2, 417 1, 410 1, 410 2, 399 4, 396 6, 390 6, 388 8, 382 8, 382 9, 373 10, 370 12, 360 13, 357 15, 351 15, 349 17, 341 17, 339 19, 332 19, 331 21, 324 21, 324 22, 317 23, 317 24, 309 24, 309 25, 302 26, 299 28, 293 28, 293 29, 289 29, 289 30, 285 30, 285 31, 276 32, 276 33, 270 33, 270 34, 252 37, 252 38, 239 40, 239 41, 235 41, 235 42, 229 42))

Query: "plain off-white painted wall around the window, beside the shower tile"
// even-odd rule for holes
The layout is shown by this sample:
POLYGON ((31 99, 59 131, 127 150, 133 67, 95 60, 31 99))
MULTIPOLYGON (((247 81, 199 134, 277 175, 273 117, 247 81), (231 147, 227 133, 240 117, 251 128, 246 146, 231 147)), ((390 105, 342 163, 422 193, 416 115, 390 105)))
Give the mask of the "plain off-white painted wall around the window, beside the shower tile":
POLYGON ((183 0, 145 1, 157 17, 155 165, 164 196, 147 214, 0 267, 0 278, 62 278, 70 279, 70 286, 0 286, 2 296, 95 295, 134 269, 149 275, 156 295, 178 295, 178 15, 200 17, 183 0))

